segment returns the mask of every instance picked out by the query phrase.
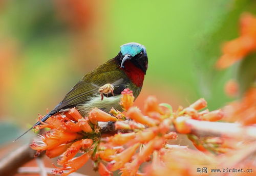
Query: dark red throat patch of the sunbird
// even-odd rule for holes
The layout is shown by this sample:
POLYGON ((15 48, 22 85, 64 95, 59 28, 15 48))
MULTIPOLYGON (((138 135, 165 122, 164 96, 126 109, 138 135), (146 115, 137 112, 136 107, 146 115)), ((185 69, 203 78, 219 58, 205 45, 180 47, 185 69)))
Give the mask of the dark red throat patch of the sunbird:
POLYGON ((137 87, 142 87, 145 73, 138 67, 136 67, 131 61, 126 61, 124 68, 121 68, 127 74, 127 77, 132 80, 132 82, 137 87))

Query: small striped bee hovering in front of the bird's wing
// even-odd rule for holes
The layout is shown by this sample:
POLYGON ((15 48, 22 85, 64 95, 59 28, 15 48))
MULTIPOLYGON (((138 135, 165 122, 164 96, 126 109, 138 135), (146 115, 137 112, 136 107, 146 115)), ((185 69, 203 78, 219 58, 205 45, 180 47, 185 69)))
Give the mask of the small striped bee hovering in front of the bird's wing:
POLYGON ((115 94, 114 94, 115 85, 118 85, 121 82, 123 82, 123 79, 119 79, 119 80, 117 80, 116 82, 114 82, 112 84, 110 84, 110 83, 104 84, 103 86, 97 86, 93 83, 92 83, 92 85, 98 88, 98 92, 100 93, 101 100, 103 100, 103 98, 104 98, 103 95, 104 94, 106 96, 108 96, 108 94, 111 93, 113 96, 115 96, 115 94))

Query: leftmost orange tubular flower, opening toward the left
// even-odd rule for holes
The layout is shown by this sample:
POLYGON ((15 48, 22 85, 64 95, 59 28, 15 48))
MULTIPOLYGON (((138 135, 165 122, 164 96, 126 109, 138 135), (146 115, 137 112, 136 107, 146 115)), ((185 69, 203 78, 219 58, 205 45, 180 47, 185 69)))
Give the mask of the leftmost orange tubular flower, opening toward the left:
POLYGON ((43 144, 36 144, 33 142, 30 147, 35 150, 50 150, 60 144, 69 143, 75 139, 81 138, 82 135, 77 133, 68 133, 60 130, 53 129, 51 132, 42 135, 43 144))

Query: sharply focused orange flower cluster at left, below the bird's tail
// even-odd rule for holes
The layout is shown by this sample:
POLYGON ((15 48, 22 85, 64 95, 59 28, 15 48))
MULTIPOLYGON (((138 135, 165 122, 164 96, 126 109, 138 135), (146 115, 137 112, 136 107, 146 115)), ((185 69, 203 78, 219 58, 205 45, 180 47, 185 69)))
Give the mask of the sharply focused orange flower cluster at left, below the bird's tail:
POLYGON ((83 118, 75 108, 72 108, 68 112, 50 117, 47 123, 41 122, 42 124, 36 128, 51 130, 41 135, 40 141, 34 141, 30 146, 38 152, 46 150, 49 158, 61 155, 58 160, 61 167, 53 172, 69 175, 83 166, 90 157, 95 156, 100 137, 98 121, 116 120, 116 117, 97 108, 90 112, 89 117, 83 118), (81 155, 75 157, 78 153, 81 155))

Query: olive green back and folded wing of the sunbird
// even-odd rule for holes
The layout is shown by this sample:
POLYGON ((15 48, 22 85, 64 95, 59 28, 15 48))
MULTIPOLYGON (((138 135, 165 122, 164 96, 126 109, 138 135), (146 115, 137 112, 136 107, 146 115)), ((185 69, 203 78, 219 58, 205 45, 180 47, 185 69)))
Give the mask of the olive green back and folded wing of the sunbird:
POLYGON ((109 71, 94 74, 94 76, 88 74, 69 91, 62 102, 53 111, 72 108, 88 102, 93 96, 99 94, 98 87, 94 85, 100 87, 106 83, 115 83, 115 95, 121 94, 122 90, 125 88, 125 81, 120 78, 120 76, 122 77, 120 71, 109 71))

